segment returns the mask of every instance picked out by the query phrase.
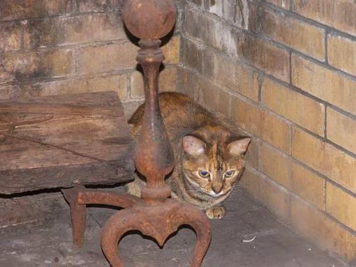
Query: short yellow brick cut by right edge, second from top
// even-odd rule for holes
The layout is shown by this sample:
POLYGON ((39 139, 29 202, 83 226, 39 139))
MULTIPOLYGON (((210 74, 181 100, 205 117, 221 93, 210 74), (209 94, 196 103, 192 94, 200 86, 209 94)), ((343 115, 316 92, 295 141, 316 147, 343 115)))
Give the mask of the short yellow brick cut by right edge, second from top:
POLYGON ((327 36, 327 59, 331 66, 356 75, 356 42, 341 36, 327 36))

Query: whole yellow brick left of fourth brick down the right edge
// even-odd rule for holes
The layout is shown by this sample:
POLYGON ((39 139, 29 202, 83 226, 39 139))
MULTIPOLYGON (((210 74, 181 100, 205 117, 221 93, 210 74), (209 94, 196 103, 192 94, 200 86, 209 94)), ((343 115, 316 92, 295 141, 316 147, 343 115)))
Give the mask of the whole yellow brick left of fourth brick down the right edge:
POLYGON ((262 102, 286 119, 324 135, 325 107, 321 103, 267 78, 262 83, 262 102))

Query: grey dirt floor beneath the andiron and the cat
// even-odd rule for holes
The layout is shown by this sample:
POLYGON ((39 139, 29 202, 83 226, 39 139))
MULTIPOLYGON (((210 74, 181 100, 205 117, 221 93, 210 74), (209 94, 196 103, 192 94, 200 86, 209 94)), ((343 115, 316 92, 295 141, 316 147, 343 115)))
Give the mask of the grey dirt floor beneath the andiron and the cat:
MULTIPOLYGON (((347 266, 293 234, 243 190, 236 190, 225 204, 228 215, 212 222, 212 244, 202 266, 347 266), (251 243, 242 243, 254 236, 251 243)), ((84 247, 73 250, 69 209, 59 192, 0 199, 0 266, 109 266, 100 234, 112 213, 90 208, 84 247)), ((162 250, 139 234, 125 236, 119 250, 127 267, 184 267, 189 266, 194 244, 194 232, 183 228, 162 250)))

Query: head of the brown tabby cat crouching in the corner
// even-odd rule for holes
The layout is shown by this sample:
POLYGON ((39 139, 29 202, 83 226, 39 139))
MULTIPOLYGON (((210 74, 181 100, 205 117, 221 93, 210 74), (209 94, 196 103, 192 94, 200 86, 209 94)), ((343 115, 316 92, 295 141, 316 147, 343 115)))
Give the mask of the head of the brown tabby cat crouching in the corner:
POLYGON ((191 190, 221 197, 232 190, 244 169, 244 153, 251 138, 231 135, 186 135, 182 140, 182 168, 191 190))

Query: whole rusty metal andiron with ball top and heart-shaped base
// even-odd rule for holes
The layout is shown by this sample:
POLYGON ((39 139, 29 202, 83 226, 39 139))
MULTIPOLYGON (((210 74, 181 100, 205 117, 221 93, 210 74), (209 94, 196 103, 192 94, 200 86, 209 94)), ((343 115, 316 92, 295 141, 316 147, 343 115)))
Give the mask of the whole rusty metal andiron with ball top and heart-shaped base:
POLYGON ((107 221, 101 236, 105 257, 114 267, 123 266, 118 254, 120 238, 128 231, 138 230, 156 239, 163 246, 165 240, 187 224, 195 230, 197 243, 191 261, 200 266, 212 238, 212 227, 205 213, 182 201, 170 199, 170 188, 165 176, 174 167, 170 142, 165 132, 158 105, 158 72, 164 56, 159 48, 160 38, 167 35, 175 24, 176 9, 171 0, 127 0, 124 22, 133 35, 140 38, 137 60, 144 71, 146 104, 144 121, 135 165, 147 178, 142 199, 128 194, 101 192, 77 187, 62 190, 71 206, 73 240, 81 246, 84 240, 86 204, 107 204, 126 208, 107 221))

